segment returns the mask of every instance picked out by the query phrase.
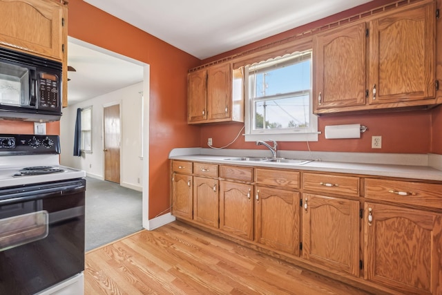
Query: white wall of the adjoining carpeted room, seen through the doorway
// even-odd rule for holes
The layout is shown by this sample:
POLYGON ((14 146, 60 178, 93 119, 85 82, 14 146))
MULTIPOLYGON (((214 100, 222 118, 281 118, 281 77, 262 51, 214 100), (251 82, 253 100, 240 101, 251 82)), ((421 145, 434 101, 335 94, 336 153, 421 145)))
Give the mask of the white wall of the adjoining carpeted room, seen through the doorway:
POLYGON ((60 163, 86 171, 87 175, 104 179, 103 109, 120 104, 122 120, 120 181, 123 187, 142 191, 142 95, 143 83, 137 83, 63 109, 60 120, 60 163), (92 153, 73 156, 77 108, 92 108, 92 153))

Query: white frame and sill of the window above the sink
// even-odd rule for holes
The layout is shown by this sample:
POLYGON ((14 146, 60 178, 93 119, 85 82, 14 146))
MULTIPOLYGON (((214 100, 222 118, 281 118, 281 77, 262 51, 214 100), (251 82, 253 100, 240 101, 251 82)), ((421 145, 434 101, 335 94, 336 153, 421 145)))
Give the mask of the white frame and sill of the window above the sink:
MULTIPOLYGON (((294 54, 299 54, 299 52, 295 52, 292 55, 294 54)), ((313 53, 311 53, 311 55, 313 55, 313 53)), ((290 58, 291 55, 285 57, 279 57, 273 59, 273 61, 287 62, 287 59, 290 58)), ((263 61, 262 64, 267 62, 272 62, 272 61, 263 61)), ((309 128, 253 130, 254 101, 251 97, 251 90, 249 88, 249 66, 246 66, 244 68, 244 87, 245 87, 244 140, 246 142, 256 142, 257 140, 268 140, 269 138, 271 138, 272 140, 277 140, 282 142, 317 142, 318 141, 318 117, 313 113, 313 98, 311 93, 312 84, 313 84, 313 68, 311 68, 310 73, 311 77, 310 77, 310 90, 309 90, 309 97, 310 97, 309 128)))

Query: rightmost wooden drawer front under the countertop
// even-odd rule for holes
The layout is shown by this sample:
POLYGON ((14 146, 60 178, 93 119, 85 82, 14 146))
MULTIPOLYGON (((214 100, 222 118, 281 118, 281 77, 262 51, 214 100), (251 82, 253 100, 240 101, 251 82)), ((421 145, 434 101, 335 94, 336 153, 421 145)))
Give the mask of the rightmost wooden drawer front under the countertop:
POLYGON ((365 198, 442 209, 442 184, 366 178, 365 198))

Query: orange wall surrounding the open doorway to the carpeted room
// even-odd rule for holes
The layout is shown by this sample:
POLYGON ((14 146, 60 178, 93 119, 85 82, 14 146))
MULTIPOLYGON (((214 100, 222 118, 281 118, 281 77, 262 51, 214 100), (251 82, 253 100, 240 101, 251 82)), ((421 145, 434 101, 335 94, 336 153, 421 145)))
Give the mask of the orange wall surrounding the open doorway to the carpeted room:
POLYGON ((200 142, 199 129, 186 124, 187 70, 200 61, 82 0, 68 8, 70 37, 151 66, 148 216, 155 218, 170 206, 169 151, 200 142))

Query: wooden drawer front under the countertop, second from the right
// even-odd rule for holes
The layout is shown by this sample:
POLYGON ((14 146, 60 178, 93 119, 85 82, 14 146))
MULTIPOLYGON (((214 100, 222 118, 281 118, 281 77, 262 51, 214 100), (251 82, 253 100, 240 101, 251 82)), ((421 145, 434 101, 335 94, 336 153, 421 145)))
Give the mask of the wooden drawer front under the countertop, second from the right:
POLYGON ((359 178, 356 176, 303 173, 302 187, 310 191, 359 196, 359 178))

